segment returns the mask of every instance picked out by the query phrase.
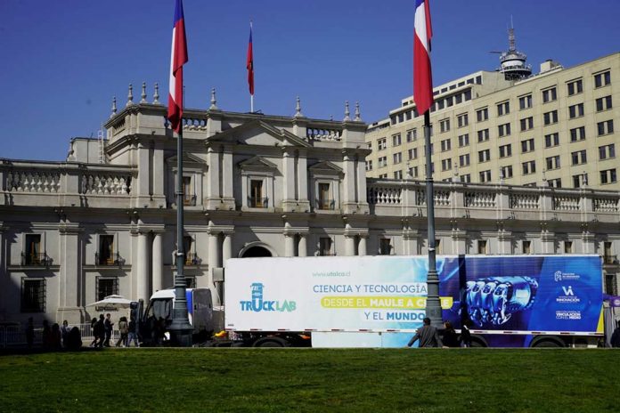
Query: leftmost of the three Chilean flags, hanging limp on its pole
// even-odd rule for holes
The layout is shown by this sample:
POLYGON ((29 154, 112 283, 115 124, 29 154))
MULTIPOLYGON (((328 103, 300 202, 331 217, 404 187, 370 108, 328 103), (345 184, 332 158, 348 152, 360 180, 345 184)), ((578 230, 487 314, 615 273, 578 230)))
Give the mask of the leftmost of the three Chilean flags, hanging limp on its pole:
POLYGON ((168 91, 168 120, 177 133, 181 132, 183 118, 183 65, 187 63, 187 42, 183 2, 176 0, 175 21, 172 26, 172 53, 170 53, 170 89, 168 91))

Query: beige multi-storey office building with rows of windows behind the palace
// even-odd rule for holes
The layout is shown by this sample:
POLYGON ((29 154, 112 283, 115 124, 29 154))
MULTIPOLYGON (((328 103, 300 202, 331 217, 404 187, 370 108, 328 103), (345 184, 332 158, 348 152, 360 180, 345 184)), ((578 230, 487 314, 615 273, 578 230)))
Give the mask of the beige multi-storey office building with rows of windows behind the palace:
MULTIPOLYGON (((434 88, 436 181, 620 190, 620 53, 529 76, 510 43, 497 71, 434 88)), ((368 128, 368 176, 425 179, 423 117, 412 96, 368 128)))

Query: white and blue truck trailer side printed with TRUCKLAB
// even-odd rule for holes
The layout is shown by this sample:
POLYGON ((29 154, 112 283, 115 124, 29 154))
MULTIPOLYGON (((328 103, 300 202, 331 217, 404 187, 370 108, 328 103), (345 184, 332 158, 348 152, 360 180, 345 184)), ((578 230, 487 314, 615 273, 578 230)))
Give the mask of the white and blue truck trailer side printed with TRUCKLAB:
MULTIPOLYGON (((602 325, 598 255, 438 256, 436 268, 443 319, 461 328, 466 316, 503 336, 494 345, 602 325)), ((314 346, 403 346, 425 317, 427 271, 426 256, 228 260, 225 328, 312 331, 314 346)))

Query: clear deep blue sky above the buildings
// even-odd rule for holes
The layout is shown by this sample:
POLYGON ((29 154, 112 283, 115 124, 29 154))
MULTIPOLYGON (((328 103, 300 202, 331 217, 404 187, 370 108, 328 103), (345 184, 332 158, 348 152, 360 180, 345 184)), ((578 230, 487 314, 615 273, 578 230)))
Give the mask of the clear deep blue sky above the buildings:
MULTIPOLYGON (((535 70, 620 51, 620 1, 434 0, 433 77, 439 85, 495 69, 514 21, 535 70)), ((184 0, 190 61, 185 106, 249 111, 245 69, 254 21, 255 109, 341 119, 360 101, 371 123, 412 94, 413 0, 184 0)), ((174 0, 0 0, 0 158, 64 160, 69 140, 96 136, 127 85, 148 100, 167 78, 174 0)))

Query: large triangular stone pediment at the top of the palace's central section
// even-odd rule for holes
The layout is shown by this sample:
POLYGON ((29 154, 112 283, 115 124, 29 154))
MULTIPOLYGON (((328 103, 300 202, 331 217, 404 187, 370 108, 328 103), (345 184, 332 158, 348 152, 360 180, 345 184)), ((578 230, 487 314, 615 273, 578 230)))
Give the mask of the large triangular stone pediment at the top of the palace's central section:
POLYGON ((257 119, 233 127, 206 140, 210 142, 232 143, 254 146, 293 146, 309 148, 312 145, 289 131, 271 126, 257 119))

